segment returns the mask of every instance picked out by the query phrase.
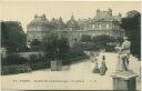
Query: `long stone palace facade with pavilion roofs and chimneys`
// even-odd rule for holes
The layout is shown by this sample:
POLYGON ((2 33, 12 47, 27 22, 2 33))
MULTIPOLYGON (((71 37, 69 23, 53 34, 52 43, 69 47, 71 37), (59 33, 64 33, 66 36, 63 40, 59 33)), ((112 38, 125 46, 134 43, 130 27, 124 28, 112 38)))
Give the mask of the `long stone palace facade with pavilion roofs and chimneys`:
POLYGON ((49 21, 45 14, 38 17, 27 26, 27 40, 31 42, 33 39, 40 41, 50 33, 55 32, 58 36, 64 36, 70 41, 80 40, 82 34, 91 37, 106 34, 114 38, 124 37, 124 31, 120 27, 122 16, 112 14, 112 10, 97 10, 97 16, 89 19, 79 19, 78 21, 71 16, 71 19, 64 23, 62 18, 49 21))

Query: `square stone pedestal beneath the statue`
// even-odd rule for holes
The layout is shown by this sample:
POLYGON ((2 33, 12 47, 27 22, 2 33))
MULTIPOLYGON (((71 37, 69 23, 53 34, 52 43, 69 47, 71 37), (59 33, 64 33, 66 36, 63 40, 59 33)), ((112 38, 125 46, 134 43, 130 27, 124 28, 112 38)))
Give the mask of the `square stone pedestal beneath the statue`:
POLYGON ((112 74, 113 90, 135 91, 136 77, 138 75, 131 71, 114 72, 112 74))

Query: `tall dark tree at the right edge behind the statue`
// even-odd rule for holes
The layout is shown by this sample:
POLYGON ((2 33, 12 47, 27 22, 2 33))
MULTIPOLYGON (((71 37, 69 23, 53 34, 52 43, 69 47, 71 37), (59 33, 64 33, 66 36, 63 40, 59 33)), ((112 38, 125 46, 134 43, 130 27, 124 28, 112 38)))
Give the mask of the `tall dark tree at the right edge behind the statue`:
POLYGON ((131 53, 141 57, 141 13, 132 10, 122 19, 121 27, 131 41, 131 53))

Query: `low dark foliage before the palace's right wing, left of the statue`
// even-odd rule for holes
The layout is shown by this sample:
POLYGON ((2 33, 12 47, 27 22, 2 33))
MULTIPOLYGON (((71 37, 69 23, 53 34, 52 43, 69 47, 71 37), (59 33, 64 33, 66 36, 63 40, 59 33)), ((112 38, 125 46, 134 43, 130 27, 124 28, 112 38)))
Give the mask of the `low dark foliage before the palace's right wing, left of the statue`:
POLYGON ((82 36, 81 41, 82 41, 82 44, 80 44, 80 49, 85 51, 90 51, 90 50, 98 51, 100 49, 106 49, 106 51, 114 51, 113 49, 114 46, 109 46, 108 43, 112 43, 112 42, 116 43, 118 39, 114 39, 105 34, 93 37, 93 38, 91 38, 91 36, 82 36))

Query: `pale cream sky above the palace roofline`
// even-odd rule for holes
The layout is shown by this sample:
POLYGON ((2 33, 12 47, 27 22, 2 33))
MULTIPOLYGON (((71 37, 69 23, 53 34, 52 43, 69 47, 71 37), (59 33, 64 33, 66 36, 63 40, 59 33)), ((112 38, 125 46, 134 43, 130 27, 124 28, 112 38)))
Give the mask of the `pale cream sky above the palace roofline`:
POLYGON ((23 30, 34 18, 34 14, 45 14, 47 19, 62 17, 68 21, 71 14, 78 20, 95 17, 97 9, 112 9, 113 14, 122 13, 124 17, 128 11, 140 11, 140 1, 3 1, 0 3, 0 20, 20 21, 23 30))

